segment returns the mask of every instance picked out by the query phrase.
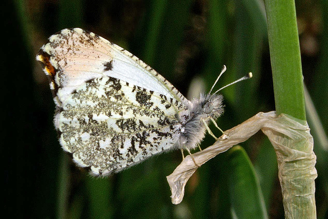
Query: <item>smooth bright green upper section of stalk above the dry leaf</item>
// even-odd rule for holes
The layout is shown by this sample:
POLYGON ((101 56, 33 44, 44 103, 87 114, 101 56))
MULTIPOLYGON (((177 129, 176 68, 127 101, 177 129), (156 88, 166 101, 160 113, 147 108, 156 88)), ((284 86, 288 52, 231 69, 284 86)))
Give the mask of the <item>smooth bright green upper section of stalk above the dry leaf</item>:
POLYGON ((294 0, 265 0, 277 114, 306 120, 294 0))

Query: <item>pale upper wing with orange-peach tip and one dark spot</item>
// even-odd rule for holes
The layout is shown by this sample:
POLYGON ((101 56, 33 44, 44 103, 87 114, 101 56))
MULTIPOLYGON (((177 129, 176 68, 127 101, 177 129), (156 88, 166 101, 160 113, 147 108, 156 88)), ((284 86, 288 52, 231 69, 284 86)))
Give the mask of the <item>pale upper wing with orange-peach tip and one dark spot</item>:
POLYGON ((110 76, 166 95, 189 101, 149 65, 121 47, 80 28, 64 29, 49 37, 36 59, 50 77, 55 103, 65 99, 92 78, 110 76))

